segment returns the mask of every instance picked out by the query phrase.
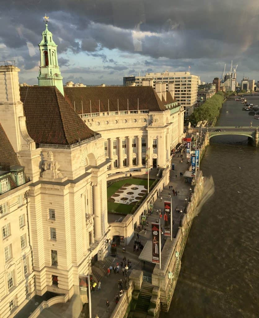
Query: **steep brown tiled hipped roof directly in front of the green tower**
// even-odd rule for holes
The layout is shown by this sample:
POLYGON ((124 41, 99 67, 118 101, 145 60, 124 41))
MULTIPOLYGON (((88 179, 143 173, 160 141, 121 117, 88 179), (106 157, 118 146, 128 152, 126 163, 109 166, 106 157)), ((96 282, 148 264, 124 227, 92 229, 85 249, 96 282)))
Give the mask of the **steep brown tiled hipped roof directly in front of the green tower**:
POLYGON ((72 145, 96 135, 55 86, 21 86, 28 133, 37 144, 72 145))

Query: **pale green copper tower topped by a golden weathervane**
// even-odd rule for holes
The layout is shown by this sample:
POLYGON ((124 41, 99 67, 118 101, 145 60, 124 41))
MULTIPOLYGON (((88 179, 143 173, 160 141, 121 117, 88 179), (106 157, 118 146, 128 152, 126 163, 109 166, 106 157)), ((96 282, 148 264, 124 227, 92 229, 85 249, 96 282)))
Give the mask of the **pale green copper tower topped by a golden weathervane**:
MULTIPOLYGON (((45 17, 47 18, 47 17, 45 17)), ((42 41, 39 43, 40 70, 38 76, 39 86, 56 86, 64 95, 63 77, 58 66, 57 46, 52 39, 52 33, 48 30, 47 19, 46 29, 42 32, 42 41)))

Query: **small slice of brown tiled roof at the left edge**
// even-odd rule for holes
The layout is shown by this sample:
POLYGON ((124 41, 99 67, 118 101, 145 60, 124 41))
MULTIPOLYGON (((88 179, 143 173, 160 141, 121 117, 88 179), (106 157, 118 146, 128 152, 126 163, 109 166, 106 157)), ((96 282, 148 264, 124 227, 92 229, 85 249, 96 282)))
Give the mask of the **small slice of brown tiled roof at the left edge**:
POLYGON ((2 125, 0 124, 0 163, 7 163, 10 166, 20 166, 13 146, 10 143, 2 125))

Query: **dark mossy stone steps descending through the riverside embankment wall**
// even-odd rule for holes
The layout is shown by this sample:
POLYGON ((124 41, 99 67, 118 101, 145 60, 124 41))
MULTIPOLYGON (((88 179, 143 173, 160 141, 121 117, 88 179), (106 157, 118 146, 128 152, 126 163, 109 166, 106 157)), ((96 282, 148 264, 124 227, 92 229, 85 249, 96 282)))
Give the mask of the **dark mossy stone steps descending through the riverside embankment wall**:
MULTIPOLYGON (((147 310, 150 305, 150 299, 152 297, 153 286, 150 283, 144 282, 140 288, 140 294, 135 307, 134 318, 142 318, 143 315, 147 315, 147 310)), ((145 316, 146 317, 146 316, 145 316)))

